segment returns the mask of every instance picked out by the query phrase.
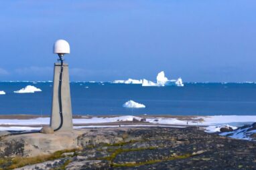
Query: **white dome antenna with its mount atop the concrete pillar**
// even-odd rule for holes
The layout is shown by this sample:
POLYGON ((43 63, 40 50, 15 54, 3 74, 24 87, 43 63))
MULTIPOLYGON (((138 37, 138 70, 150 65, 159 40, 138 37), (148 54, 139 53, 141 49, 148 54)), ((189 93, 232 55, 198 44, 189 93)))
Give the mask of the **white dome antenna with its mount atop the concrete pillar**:
POLYGON ((64 40, 64 39, 58 39, 54 43, 54 53, 58 54, 58 56, 60 57, 60 60, 62 60, 62 57, 65 54, 69 54, 70 53, 70 47, 69 47, 68 42, 66 40, 64 40))

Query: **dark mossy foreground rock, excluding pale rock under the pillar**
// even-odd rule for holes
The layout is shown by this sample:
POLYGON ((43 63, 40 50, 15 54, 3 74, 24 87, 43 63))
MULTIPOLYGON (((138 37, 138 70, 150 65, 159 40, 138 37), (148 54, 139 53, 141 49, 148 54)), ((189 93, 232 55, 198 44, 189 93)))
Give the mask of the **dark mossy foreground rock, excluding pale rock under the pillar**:
MULTIPOLYGON (((196 127, 86 129, 77 143, 82 149, 62 154, 56 160, 64 161, 50 162, 51 169, 256 169, 255 142, 196 127)), ((26 168, 47 169, 44 165, 26 168)))

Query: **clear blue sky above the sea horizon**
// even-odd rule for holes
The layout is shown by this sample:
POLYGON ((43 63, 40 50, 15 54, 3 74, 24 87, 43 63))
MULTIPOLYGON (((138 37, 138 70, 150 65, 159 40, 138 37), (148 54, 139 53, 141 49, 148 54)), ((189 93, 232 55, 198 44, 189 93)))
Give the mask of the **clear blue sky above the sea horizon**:
POLYGON ((255 0, 0 2, 0 81, 52 80, 57 39, 71 81, 256 81, 255 0))

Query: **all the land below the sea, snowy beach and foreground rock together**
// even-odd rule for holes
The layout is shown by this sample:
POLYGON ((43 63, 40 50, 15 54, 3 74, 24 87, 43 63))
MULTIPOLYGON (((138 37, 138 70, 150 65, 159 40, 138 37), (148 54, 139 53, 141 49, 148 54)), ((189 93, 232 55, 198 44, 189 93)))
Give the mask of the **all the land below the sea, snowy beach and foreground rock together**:
POLYGON ((0 131, 0 169, 256 168, 256 123, 236 129, 215 126, 218 131, 209 131, 212 126, 206 123, 210 122, 208 117, 76 115, 73 131, 20 135, 19 132, 45 126, 37 121, 48 117, 0 118, 17 123, 1 123, 0 128, 12 130, 0 131), (28 122, 34 124, 25 124, 28 122), (233 139, 237 134, 240 138, 233 139))

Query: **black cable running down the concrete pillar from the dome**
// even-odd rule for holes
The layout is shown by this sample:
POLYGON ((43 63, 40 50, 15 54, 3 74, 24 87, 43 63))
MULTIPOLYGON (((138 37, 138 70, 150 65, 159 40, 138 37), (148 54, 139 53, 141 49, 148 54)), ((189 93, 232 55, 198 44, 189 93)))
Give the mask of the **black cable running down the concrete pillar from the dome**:
POLYGON ((60 57, 60 81, 59 81, 59 89, 58 89, 58 101, 59 101, 59 109, 60 109, 60 125, 54 131, 58 131, 62 128, 63 125, 63 115, 62 115, 62 73, 63 73, 63 59, 62 54, 59 54, 60 57))

